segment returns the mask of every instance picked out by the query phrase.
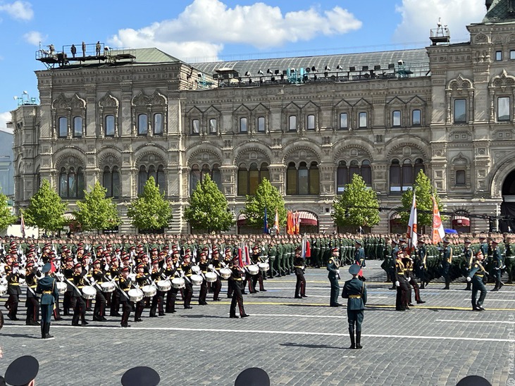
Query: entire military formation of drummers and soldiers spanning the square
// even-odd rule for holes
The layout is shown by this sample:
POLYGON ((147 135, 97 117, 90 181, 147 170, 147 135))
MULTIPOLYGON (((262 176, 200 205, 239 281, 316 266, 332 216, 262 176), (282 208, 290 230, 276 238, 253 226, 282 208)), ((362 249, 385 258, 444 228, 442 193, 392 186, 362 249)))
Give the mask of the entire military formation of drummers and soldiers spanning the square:
POLYGON ((507 282, 514 277, 511 235, 464 235, 438 244, 420 235, 412 248, 407 241, 399 235, 350 234, 7 238, 0 245, 0 295, 8 295, 7 318, 18 320, 23 288, 25 323, 42 325, 44 316, 42 337, 48 337, 51 317, 61 320, 63 314, 72 316, 72 325, 87 325, 91 312, 93 320, 116 317, 122 327, 129 327, 131 315, 134 323, 141 322, 146 309, 150 318, 174 313, 179 298, 185 309, 191 309, 194 287, 199 287, 199 306, 220 301, 223 282, 232 299, 230 318, 246 318, 242 295, 266 291, 265 280, 296 275, 294 298, 307 297, 306 266, 327 268, 329 305, 340 306, 340 267, 356 263, 357 278, 364 282, 366 259, 382 259, 387 282, 397 290, 399 311, 413 305, 412 293, 417 304, 424 303, 420 289, 438 278, 443 278, 444 289, 452 280, 469 278, 464 289, 473 290, 474 297, 480 292, 472 301, 473 309, 480 311, 484 283, 494 283, 493 290, 498 291, 503 273, 507 282), (51 282, 46 277, 55 279, 53 301, 45 295, 54 289, 39 288, 51 282))

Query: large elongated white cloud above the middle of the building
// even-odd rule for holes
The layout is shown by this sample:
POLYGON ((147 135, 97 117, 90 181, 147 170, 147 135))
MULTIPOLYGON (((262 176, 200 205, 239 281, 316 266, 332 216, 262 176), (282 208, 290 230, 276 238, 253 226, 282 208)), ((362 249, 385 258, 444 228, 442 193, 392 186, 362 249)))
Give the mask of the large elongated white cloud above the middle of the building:
POLYGON ((283 15, 277 6, 255 3, 228 8, 220 0, 194 0, 177 18, 139 30, 119 30, 114 46, 156 46, 178 58, 216 56, 223 44, 249 44, 258 49, 309 40, 316 35, 342 35, 359 30, 361 21, 340 6, 328 11, 309 8, 283 15))

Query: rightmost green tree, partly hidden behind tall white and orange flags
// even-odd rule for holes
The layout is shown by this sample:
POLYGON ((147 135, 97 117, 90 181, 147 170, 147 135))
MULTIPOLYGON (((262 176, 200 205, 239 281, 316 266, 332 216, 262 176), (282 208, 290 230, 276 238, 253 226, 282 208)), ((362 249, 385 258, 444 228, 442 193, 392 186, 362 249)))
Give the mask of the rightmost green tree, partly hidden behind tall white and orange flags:
MULTIPOLYGON (((429 177, 424 174, 422 170, 418 172, 413 188, 416 193, 416 223, 418 229, 421 229, 421 227, 430 226, 433 223, 433 200, 431 199, 431 194, 435 196, 440 211, 442 211, 442 203, 440 202, 438 194, 433 192, 429 177), (427 213, 424 213, 424 211, 427 213)), ((404 192, 401 201, 403 211, 400 211, 399 215, 401 216, 402 222, 408 224, 411 203, 413 202, 413 189, 408 189, 404 192)))

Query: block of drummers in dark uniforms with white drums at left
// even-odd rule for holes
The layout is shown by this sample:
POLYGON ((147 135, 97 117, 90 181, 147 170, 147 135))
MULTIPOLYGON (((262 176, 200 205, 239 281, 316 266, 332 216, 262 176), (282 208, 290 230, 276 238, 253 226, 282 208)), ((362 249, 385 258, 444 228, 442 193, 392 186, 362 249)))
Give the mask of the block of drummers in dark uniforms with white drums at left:
MULTIPOLYGON (((130 247, 130 252, 117 252, 113 254, 109 250, 104 251, 103 246, 97 246, 95 252, 95 260, 92 261, 91 252, 85 252, 82 245, 77 246, 76 254, 63 246, 61 257, 58 260, 54 251, 50 249, 51 244, 44 244, 42 255, 37 258, 37 254, 30 247, 26 262, 24 264, 25 273, 20 270, 20 262, 18 262, 17 246, 15 242, 11 243, 13 252, 5 256, 6 259, 6 280, 8 285, 9 299, 6 302, 8 308, 8 318, 18 320, 16 313, 18 311, 18 302, 21 294, 20 278, 24 278, 27 282, 27 325, 39 325, 39 301, 34 288, 37 285, 37 278, 41 276, 41 272, 37 269, 42 263, 50 263, 52 267, 52 275, 60 282, 66 282, 66 292, 63 299, 63 311, 65 315, 73 313, 72 325, 87 325, 86 311, 93 311, 93 320, 106 320, 106 306, 110 308, 110 316, 121 316, 121 325, 128 327, 128 317, 130 310, 135 310, 135 321, 142 321, 142 311, 145 307, 150 308, 150 317, 164 316, 166 313, 175 312, 175 299, 179 292, 178 289, 170 287, 166 292, 156 291, 151 297, 144 297, 132 304, 125 292, 132 287, 143 287, 144 285, 156 285, 160 280, 167 280, 174 277, 185 278, 185 288, 180 290, 182 299, 184 300, 185 309, 191 309, 190 302, 192 299, 192 282, 190 278, 193 273, 192 251, 186 249, 184 256, 180 256, 180 251, 174 245, 171 251, 156 250, 151 251, 151 255, 142 250, 142 245, 135 248, 130 247), (151 262, 150 262, 151 261, 151 262), (130 279, 130 280, 128 280, 130 279), (113 282, 117 291, 106 291, 102 286, 105 282, 113 282), (94 287, 95 305, 91 310, 92 298, 85 297, 85 287, 94 287), (163 304, 166 297, 166 309, 163 304), (123 313, 120 315, 120 305, 123 313), (80 324, 79 324, 80 323, 80 324)), ((166 249, 166 248, 165 248, 166 249)), ((263 261, 261 256, 261 247, 254 246, 252 250, 251 263, 258 264, 263 261)), ((199 293, 199 304, 206 305, 206 296, 211 287, 213 292, 213 301, 220 301, 219 297, 222 283, 220 278, 220 270, 223 267, 230 267, 232 262, 232 249, 225 249, 220 256, 217 247, 213 247, 211 251, 204 247, 199 253, 199 271, 204 277, 201 283, 199 293), (209 259, 208 259, 208 254, 209 259), (223 261, 221 260, 223 257, 223 261), (205 274, 212 270, 216 273, 215 282, 206 282, 205 274)), ((243 267, 241 267, 244 269, 243 267)), ((241 276, 240 276, 241 277, 241 276)), ((263 273, 261 270, 255 275, 244 275, 240 292, 243 294, 244 287, 249 285, 249 292, 256 293, 256 285, 259 282, 259 290, 266 291, 263 287, 263 273)), ((159 287, 159 286, 158 286, 159 287)), ((228 297, 232 297, 235 286, 230 285, 228 289, 228 297)), ((237 304, 242 302, 237 294, 237 304)), ((242 306, 241 306, 242 307, 242 306)), ((240 309, 242 309, 240 307, 240 309)), ((61 320, 58 313, 58 299, 56 299, 56 308, 54 309, 54 318, 61 320)), ((244 314, 244 313, 243 313, 244 314)))

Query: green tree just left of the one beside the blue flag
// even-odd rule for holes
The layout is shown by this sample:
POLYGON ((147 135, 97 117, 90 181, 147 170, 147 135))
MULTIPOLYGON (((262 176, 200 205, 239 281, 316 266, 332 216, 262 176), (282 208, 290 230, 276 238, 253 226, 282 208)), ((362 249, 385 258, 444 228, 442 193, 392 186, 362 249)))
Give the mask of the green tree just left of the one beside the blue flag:
POLYGON ((229 230, 234 224, 227 199, 209 175, 197 183, 190 206, 185 208, 184 218, 193 229, 207 232, 229 230))

